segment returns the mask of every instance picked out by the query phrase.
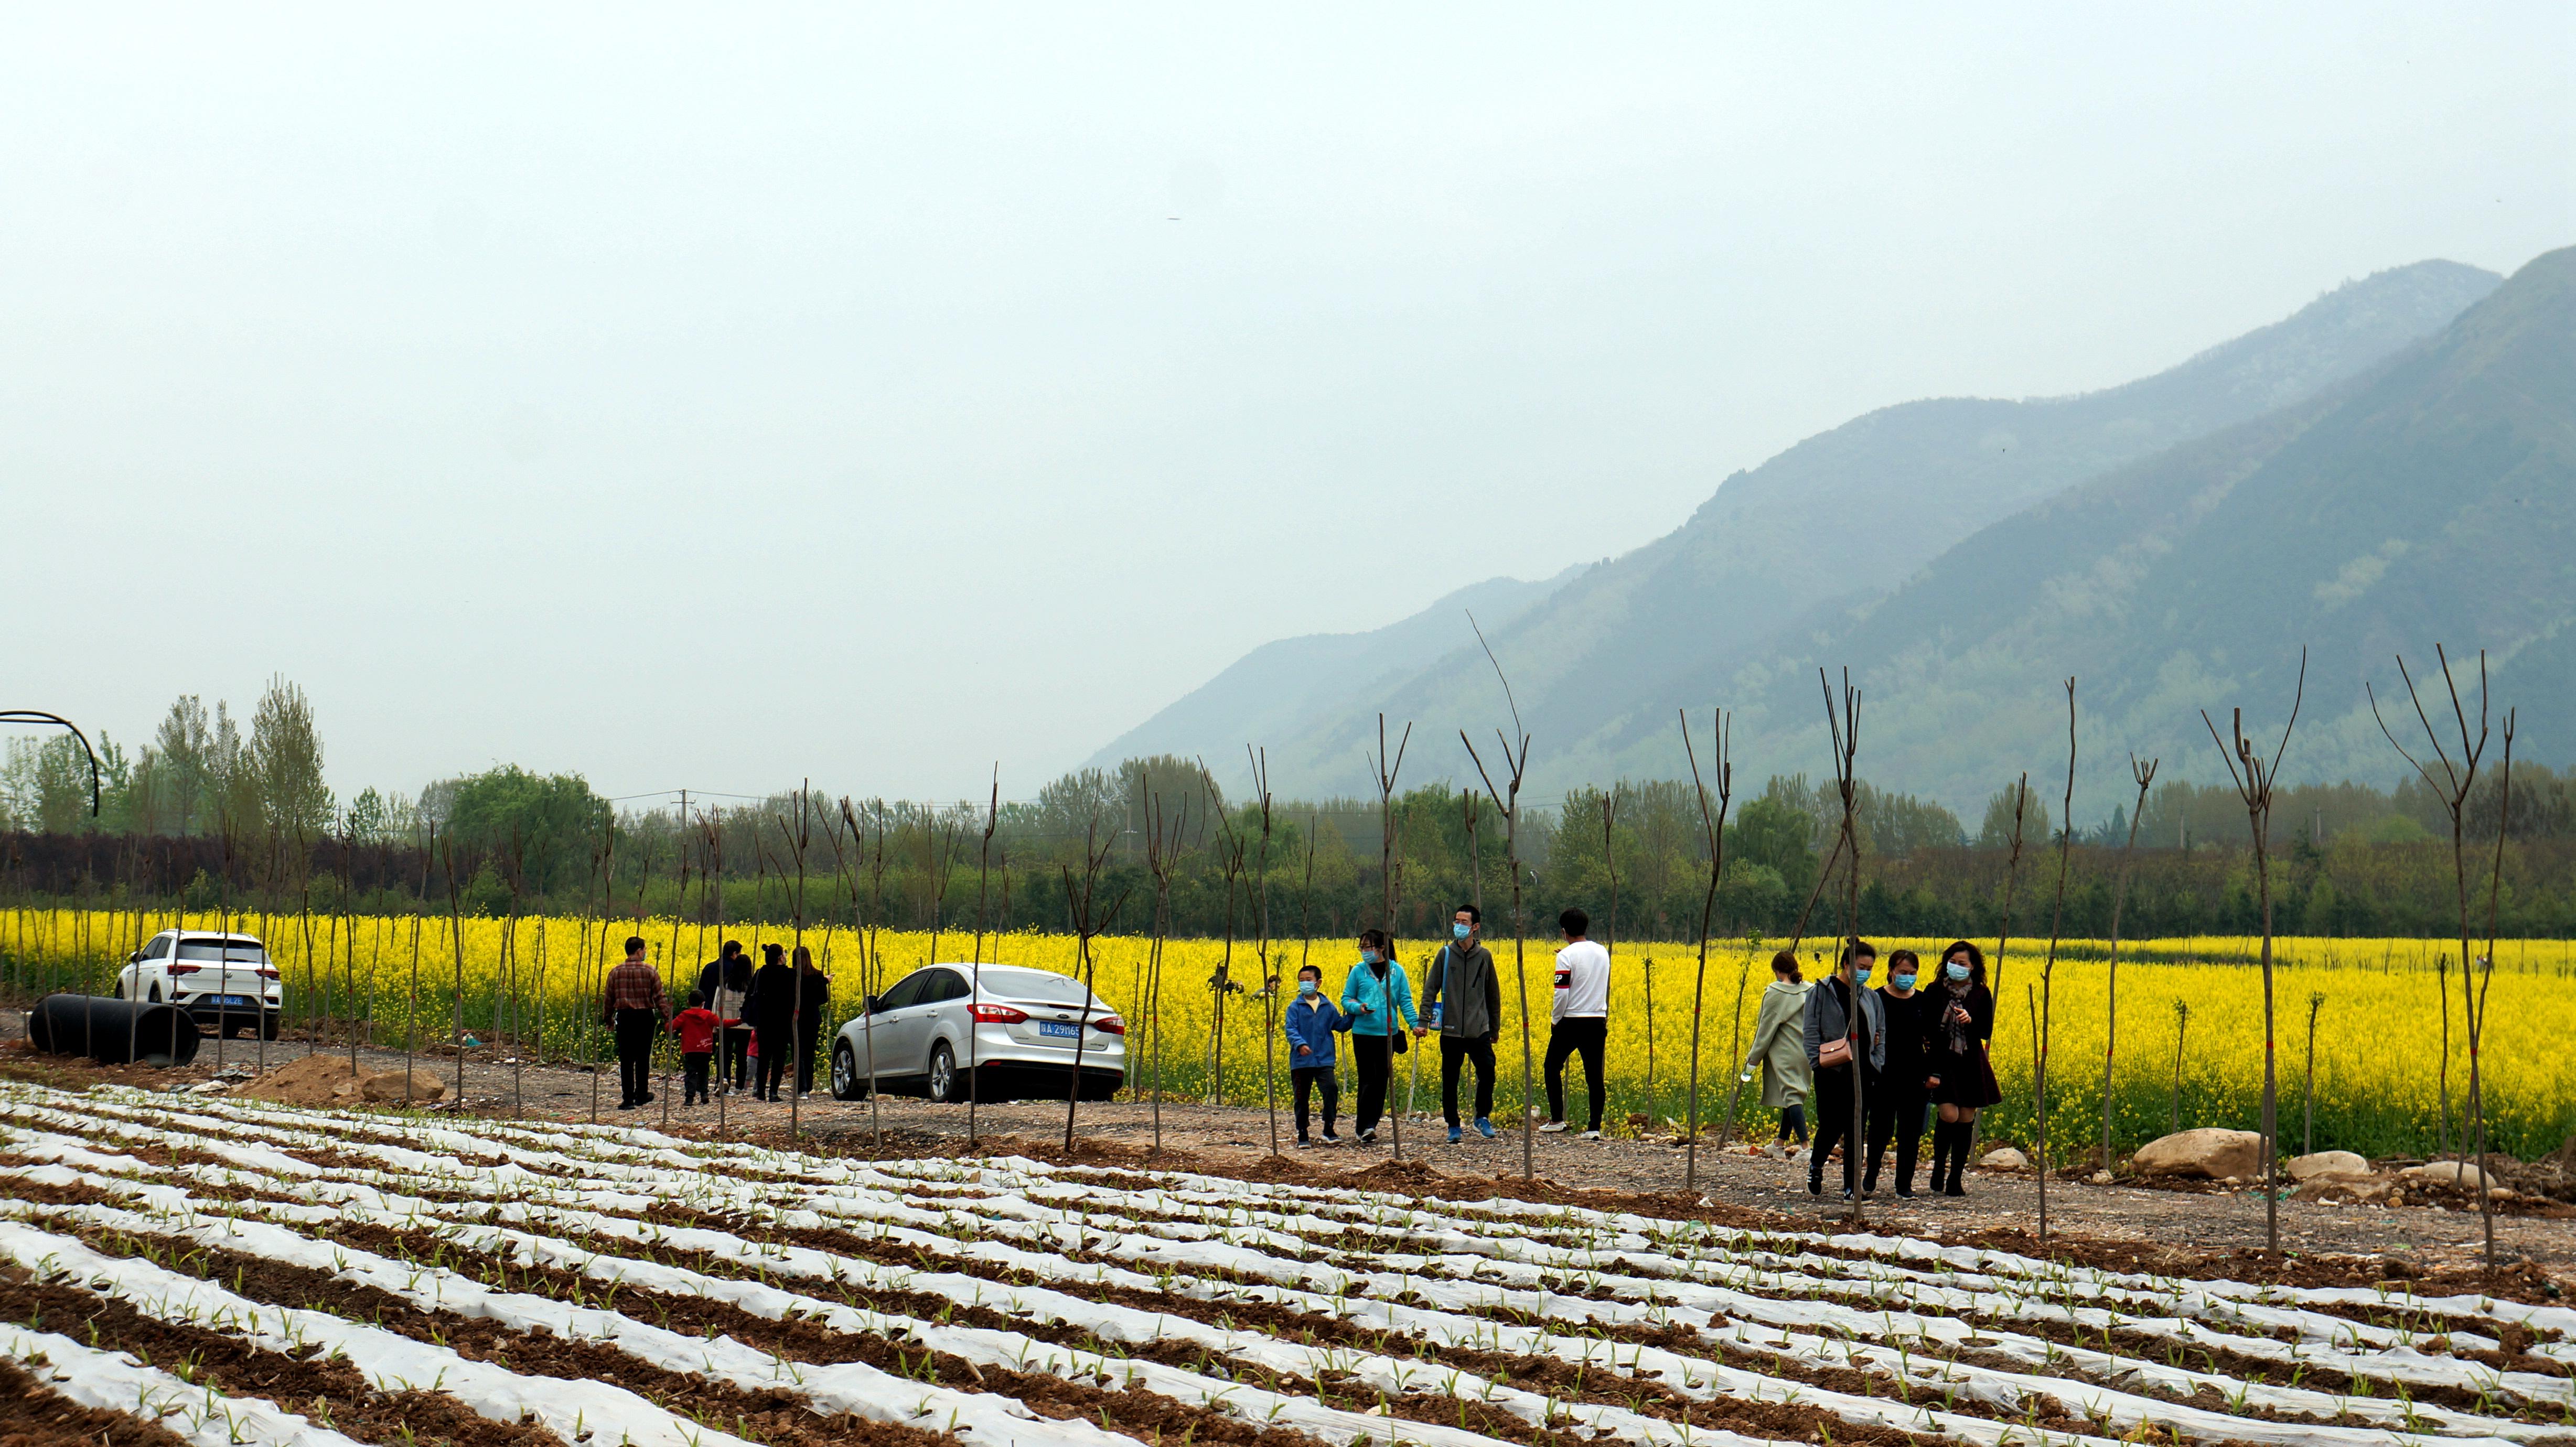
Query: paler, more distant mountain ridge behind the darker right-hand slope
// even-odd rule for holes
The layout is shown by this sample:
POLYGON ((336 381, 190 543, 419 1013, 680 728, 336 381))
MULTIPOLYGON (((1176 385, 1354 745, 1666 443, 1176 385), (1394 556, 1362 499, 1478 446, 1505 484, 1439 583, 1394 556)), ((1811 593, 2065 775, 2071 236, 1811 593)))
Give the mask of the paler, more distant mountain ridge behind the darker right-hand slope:
MULTIPOLYGON (((1953 546, 2035 502, 2349 384, 2499 281, 2458 263, 2416 263, 2344 283, 2282 322, 2123 386, 1883 407, 1731 474, 1674 533, 1625 556, 1546 584, 1476 584, 1494 592, 1481 602, 1443 597, 1373 633, 1255 649, 1095 762, 1200 754, 1231 778, 1239 765, 1221 760, 1257 742, 1280 788, 1368 790, 1381 700, 1391 721, 1412 718, 1427 736, 1461 726, 1486 734, 1504 718, 1494 669, 1461 615, 1471 605, 1538 736, 1535 790, 1623 772, 1669 778, 1682 770, 1677 705, 1741 698, 1785 667, 1783 649, 1801 651, 1793 641, 1834 639, 1855 610, 1868 613, 1953 546), (1819 566, 1826 546, 1865 561, 1819 566)), ((2012 554, 2002 559, 1981 566, 2014 574, 2012 554)), ((1785 765, 1814 770, 1821 744, 1816 752, 1785 765)), ((1435 757, 1443 762, 1419 778, 1466 775, 1463 760, 1435 757)), ((1922 788, 1901 770, 1875 778, 1922 788)))

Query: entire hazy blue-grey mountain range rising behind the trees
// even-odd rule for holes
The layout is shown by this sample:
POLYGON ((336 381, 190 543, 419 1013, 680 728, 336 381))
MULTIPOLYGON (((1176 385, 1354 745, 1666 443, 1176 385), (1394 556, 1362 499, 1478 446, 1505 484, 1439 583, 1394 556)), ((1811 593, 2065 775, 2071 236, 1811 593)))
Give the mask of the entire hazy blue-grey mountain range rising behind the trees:
POLYGON ((2434 641, 2488 646, 2499 698, 2512 677, 2535 705, 2517 752, 2550 749, 2535 713, 2576 659, 2571 564, 2548 556, 2576 397, 2568 257, 2509 283, 2442 260, 2385 270, 2105 391, 1870 412, 1728 476, 1620 559, 1255 649, 1100 762, 1180 752, 1224 775, 1252 739, 1280 785, 1358 793, 1376 708, 1355 698, 1432 736, 1507 718, 1468 608, 1538 739, 1540 793, 1682 772, 1674 708, 1716 703, 1739 716, 1739 775, 1821 772, 1816 667, 1847 664, 1862 772, 1960 811, 2025 767, 2063 778, 2076 675, 2079 793, 2099 801, 2079 816, 2107 814, 2130 747, 2177 760, 2166 778, 2221 772, 2205 734, 2208 767, 2190 749, 2197 708, 2277 726, 2303 641, 2285 775, 2393 775, 2354 713, 2362 677, 2396 682, 2385 657, 2429 662, 2434 641))

